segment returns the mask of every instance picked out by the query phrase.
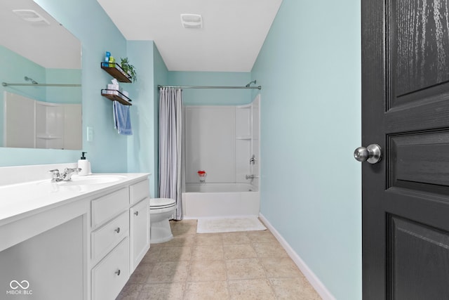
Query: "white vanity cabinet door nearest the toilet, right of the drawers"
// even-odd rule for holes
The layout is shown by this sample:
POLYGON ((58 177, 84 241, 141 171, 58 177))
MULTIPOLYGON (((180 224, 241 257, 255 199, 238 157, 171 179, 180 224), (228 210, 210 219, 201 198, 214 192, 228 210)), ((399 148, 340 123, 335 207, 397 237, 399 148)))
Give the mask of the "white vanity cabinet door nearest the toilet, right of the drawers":
POLYGON ((130 208, 130 238, 132 273, 149 249, 149 198, 130 208))

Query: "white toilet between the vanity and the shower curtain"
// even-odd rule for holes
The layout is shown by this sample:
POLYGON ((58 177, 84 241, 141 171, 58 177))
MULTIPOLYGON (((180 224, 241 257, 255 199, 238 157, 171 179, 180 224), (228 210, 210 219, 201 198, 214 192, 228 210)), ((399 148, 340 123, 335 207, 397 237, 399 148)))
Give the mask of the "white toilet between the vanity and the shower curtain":
POLYGON ((149 200, 149 242, 158 244, 173 239, 169 219, 175 214, 175 200, 170 198, 153 198, 149 200))

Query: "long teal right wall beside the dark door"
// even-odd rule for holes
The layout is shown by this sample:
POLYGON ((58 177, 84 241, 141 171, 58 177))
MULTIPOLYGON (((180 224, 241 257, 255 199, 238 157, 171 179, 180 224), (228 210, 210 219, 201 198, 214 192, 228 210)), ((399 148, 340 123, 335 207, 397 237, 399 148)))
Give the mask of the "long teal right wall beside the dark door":
POLYGON ((283 0, 262 85, 261 213, 336 299, 361 299, 360 1, 283 0))

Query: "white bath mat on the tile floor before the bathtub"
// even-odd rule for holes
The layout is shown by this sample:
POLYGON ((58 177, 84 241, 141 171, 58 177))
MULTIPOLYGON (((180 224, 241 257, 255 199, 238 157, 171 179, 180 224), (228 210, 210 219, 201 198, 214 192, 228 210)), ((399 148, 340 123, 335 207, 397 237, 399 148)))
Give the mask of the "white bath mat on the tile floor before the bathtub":
POLYGON ((199 219, 196 233, 230 233, 233 231, 267 230, 257 217, 199 219))

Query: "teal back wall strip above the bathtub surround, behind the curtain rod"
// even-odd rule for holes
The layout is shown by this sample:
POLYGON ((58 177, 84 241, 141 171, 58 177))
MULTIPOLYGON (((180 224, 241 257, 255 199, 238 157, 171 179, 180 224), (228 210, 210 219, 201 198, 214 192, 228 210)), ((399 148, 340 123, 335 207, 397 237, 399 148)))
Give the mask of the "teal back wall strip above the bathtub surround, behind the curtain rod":
MULTIPOLYGON (((251 81, 250 72, 168 72, 173 86, 246 86, 251 81)), ((247 89, 184 89, 185 105, 241 105, 250 103, 247 89)))

